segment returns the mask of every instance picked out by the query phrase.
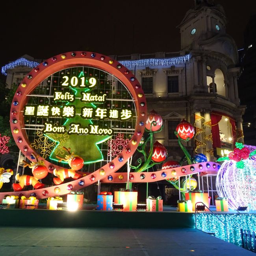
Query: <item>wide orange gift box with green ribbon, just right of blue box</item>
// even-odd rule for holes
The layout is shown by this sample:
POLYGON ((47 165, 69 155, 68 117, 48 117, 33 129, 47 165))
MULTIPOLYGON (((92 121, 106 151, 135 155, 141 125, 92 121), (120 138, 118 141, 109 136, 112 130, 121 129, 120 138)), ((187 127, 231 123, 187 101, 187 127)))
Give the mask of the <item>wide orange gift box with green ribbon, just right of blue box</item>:
POLYGON ((136 211, 138 192, 115 191, 115 204, 122 204, 124 211, 136 211))

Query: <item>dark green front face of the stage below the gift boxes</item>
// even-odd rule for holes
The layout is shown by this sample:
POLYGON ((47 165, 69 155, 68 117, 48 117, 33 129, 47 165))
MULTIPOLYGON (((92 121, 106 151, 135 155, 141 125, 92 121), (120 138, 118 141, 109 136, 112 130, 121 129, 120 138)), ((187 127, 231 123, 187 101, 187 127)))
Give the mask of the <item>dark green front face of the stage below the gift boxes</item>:
POLYGON ((0 226, 193 228, 191 213, 177 211, 97 211, 2 209, 0 226))

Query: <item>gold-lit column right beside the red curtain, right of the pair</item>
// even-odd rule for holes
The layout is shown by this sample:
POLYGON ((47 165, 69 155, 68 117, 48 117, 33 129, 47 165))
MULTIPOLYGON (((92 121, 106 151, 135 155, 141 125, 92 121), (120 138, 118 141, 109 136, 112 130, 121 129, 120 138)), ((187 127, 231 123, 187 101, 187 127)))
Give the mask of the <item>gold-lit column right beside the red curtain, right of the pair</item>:
POLYGON ((205 149, 208 161, 213 161, 212 134, 211 134, 211 117, 210 111, 204 112, 204 134, 205 134, 205 149))

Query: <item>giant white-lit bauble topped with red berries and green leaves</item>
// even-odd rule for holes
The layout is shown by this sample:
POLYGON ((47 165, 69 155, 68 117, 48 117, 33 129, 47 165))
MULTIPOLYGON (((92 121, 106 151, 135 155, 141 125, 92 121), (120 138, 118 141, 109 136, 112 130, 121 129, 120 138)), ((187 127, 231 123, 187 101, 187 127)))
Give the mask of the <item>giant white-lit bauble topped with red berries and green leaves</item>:
POLYGON ((236 143, 234 152, 228 157, 219 158, 223 161, 216 179, 219 197, 227 197, 230 208, 237 210, 239 206, 247 206, 248 210, 256 210, 256 150, 236 143))

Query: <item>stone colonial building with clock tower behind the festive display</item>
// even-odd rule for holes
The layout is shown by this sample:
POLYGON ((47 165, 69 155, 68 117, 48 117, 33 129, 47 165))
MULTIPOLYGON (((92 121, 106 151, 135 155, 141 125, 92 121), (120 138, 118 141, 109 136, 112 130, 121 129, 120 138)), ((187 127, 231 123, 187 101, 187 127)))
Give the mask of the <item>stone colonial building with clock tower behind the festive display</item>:
MULTIPOLYGON (((174 135, 182 119, 197 128, 195 139, 184 143, 192 155, 196 151, 214 160, 232 150, 236 141, 243 142, 245 106, 240 105, 237 90, 238 53, 226 22, 222 6, 195 1, 178 25, 180 52, 112 56, 141 82, 148 111, 154 109, 163 117, 164 129, 155 139, 165 145, 169 159, 183 156, 174 135)), ((21 82, 32 68, 26 65, 36 61, 24 58, 29 61, 3 67, 10 87, 21 82)))

